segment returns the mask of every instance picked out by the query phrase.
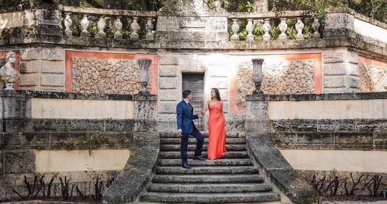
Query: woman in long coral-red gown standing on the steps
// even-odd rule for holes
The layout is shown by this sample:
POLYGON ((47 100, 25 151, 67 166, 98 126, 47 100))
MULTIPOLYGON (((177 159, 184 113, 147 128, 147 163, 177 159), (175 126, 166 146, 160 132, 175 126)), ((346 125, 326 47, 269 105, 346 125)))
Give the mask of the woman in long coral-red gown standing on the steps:
POLYGON ((219 90, 211 90, 211 100, 206 101, 203 112, 209 110, 207 158, 220 159, 226 153, 226 118, 219 90))

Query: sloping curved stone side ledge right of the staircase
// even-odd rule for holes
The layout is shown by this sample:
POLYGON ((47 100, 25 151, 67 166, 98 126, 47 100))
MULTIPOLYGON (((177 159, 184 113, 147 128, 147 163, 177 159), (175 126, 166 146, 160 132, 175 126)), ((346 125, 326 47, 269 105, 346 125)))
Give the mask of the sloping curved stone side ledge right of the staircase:
POLYGON ((290 166, 270 134, 246 133, 246 140, 255 162, 289 199, 295 203, 309 203, 317 198, 317 192, 290 166))

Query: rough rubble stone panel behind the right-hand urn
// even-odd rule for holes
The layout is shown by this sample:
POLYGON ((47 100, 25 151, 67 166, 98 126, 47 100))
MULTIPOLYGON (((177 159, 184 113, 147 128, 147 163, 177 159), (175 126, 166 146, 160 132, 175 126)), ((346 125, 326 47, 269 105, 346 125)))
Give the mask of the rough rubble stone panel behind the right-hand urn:
MULTIPOLYGON (((265 60, 262 64, 265 94, 314 93, 315 71, 313 60, 265 60)), ((238 64, 237 105, 246 106, 245 95, 255 90, 252 79, 253 63, 238 64)))

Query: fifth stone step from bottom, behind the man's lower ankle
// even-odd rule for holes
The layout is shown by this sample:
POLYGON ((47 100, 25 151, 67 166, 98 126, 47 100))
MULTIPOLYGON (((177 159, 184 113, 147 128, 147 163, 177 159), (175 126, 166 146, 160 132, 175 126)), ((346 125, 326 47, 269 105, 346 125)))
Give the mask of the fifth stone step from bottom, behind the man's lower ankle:
MULTIPOLYGON (((189 166, 250 166, 251 159, 189 160, 189 166)), ((181 159, 159 159, 159 166, 181 166, 181 159)))

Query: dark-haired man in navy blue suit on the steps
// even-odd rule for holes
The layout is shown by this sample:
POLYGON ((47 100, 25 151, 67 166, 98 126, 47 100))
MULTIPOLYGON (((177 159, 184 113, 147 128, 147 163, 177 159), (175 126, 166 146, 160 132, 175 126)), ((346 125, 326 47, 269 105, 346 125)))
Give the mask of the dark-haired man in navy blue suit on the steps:
POLYGON ((180 140, 180 154, 181 154, 181 163, 183 168, 190 169, 187 162, 187 149, 188 149, 188 138, 189 135, 192 135, 196 138, 196 149, 195 154, 193 155, 193 160, 204 161, 206 159, 202 158, 203 142, 204 137, 193 124, 193 119, 199 119, 203 117, 203 113, 193 114, 193 108, 189 101, 192 99, 192 93, 190 90, 183 91, 183 100, 176 106, 176 119, 177 119, 177 133, 181 136, 180 140))

